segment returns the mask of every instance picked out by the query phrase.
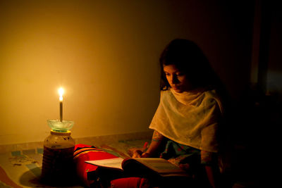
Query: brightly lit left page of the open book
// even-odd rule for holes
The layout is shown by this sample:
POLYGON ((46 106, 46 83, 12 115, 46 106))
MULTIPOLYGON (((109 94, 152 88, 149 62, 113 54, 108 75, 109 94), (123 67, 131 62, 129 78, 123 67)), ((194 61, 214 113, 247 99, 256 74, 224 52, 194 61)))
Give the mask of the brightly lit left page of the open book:
POLYGON ((106 168, 118 168, 123 169, 121 167, 121 163, 123 162, 123 158, 106 158, 101 160, 94 160, 94 161, 85 161, 85 163, 90 163, 92 165, 102 166, 106 168))

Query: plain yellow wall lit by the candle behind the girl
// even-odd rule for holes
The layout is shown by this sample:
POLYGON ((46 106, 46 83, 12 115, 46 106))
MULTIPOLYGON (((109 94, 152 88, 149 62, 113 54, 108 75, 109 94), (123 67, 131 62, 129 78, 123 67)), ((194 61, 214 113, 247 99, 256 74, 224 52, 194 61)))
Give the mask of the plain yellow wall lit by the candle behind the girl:
MULTIPOLYGON (((217 70, 230 68, 224 58, 238 58, 236 45, 221 50, 240 36, 228 11, 173 2, 0 1, 0 144, 43 141, 47 119, 59 118, 61 86, 74 138, 147 131, 159 54, 176 37, 194 39, 217 70)), ((234 84, 232 73, 220 74, 234 84)))

